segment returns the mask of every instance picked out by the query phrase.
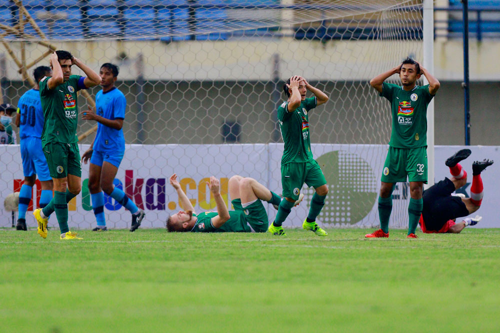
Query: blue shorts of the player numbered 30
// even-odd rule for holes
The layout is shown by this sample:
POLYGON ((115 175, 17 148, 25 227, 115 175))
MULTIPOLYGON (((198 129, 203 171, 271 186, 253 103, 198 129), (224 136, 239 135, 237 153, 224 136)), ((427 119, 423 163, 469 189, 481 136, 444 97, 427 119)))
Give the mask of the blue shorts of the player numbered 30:
POLYGON ((22 172, 24 177, 34 174, 41 181, 52 180, 48 171, 47 160, 41 148, 41 139, 27 136, 21 139, 22 172))

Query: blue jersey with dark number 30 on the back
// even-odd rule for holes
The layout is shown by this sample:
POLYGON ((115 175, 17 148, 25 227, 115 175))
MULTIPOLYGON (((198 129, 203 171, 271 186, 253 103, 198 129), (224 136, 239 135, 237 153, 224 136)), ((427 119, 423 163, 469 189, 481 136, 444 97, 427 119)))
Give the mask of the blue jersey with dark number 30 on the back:
POLYGON ((19 122, 19 137, 41 138, 43 130, 43 109, 41 108, 40 92, 35 89, 26 91, 17 103, 17 113, 21 115, 19 122))

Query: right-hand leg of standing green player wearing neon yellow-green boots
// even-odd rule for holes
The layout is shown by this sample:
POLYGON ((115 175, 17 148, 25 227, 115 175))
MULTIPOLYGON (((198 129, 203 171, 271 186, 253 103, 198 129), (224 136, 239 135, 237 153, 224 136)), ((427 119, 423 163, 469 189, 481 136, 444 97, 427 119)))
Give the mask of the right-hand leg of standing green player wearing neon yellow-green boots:
POLYGON ((324 199, 326 198, 326 194, 328 194, 326 179, 315 160, 306 163, 306 170, 305 183, 307 186, 314 188, 314 194, 311 198, 309 213, 302 223, 302 229, 311 230, 317 236, 326 236, 326 231, 319 228, 316 223, 316 217, 321 212, 324 206, 324 199))

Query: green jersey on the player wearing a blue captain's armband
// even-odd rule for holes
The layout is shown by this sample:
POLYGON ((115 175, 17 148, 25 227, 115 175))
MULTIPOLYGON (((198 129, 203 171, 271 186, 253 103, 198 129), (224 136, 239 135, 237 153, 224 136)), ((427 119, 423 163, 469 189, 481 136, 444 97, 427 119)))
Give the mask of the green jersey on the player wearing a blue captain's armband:
POLYGON ((75 143, 76 125, 78 123, 78 106, 76 91, 83 86, 83 77, 70 75, 67 82, 49 89, 45 76, 40 81, 40 99, 43 109, 43 130, 41 143, 44 146, 49 142, 75 143))

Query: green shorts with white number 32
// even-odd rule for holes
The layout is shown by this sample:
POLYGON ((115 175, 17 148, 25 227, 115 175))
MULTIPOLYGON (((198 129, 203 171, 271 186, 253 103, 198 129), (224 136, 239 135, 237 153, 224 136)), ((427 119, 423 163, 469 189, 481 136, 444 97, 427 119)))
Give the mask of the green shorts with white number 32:
POLYGON ((381 181, 384 183, 406 182, 427 183, 427 147, 389 147, 383 164, 381 181))

